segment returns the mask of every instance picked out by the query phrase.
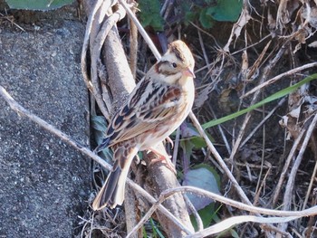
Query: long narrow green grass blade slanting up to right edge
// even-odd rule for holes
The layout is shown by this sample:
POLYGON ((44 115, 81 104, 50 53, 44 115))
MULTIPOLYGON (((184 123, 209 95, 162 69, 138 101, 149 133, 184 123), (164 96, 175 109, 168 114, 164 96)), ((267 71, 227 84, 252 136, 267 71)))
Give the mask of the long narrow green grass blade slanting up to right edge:
POLYGON ((214 119, 214 120, 211 120, 207 123, 205 123, 204 125, 202 125, 203 129, 208 129, 208 128, 211 128, 211 127, 214 127, 216 125, 219 125, 221 123, 224 123, 230 119, 235 119, 253 109, 257 109, 261 106, 263 106, 264 104, 268 103, 268 102, 271 102, 273 100, 277 100, 277 99, 280 99, 280 98, 283 98, 284 96, 290 94, 291 92, 293 92, 294 90, 298 89, 299 87, 301 87, 303 84, 309 82, 309 81, 313 81, 313 80, 316 80, 317 79, 317 73, 314 73, 312 74, 311 76, 308 76, 307 78, 303 79, 303 81, 300 81, 300 82, 297 82, 295 83, 294 85, 290 86, 290 87, 287 87, 286 89, 283 89, 283 90, 279 90, 278 92, 275 92, 273 95, 267 97, 266 99, 264 100, 261 100, 259 101, 258 103, 255 103, 255 105, 252 105, 250 106, 249 108, 247 109, 242 109, 242 110, 239 110, 233 114, 230 114, 226 117, 223 117, 221 119, 214 119))

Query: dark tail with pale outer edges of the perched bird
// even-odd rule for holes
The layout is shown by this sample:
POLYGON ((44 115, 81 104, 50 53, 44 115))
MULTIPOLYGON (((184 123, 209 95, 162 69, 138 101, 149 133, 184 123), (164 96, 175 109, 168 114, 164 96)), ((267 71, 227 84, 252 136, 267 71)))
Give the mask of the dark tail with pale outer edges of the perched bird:
MULTIPOLYGON (((133 148, 128 157, 115 158, 116 162, 113 165, 113 171, 110 172, 105 184, 101 187, 101 191, 96 195, 92 203, 93 210, 101 210, 107 205, 111 208, 116 207, 116 205, 122 205, 130 164, 137 153, 138 148, 133 148)), ((120 156, 123 156, 123 154, 120 153, 120 156)))

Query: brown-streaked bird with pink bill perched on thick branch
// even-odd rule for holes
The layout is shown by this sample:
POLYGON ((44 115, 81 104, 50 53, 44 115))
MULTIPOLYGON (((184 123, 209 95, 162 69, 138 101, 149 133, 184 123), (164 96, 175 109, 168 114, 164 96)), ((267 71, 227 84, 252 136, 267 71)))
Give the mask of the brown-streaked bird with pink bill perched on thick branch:
POLYGON ((113 169, 92 203, 93 210, 114 208, 124 200, 130 164, 139 151, 151 150, 169 159, 156 146, 178 129, 194 102, 194 58, 186 43, 168 44, 166 52, 131 92, 113 116, 100 146, 113 150, 113 169))

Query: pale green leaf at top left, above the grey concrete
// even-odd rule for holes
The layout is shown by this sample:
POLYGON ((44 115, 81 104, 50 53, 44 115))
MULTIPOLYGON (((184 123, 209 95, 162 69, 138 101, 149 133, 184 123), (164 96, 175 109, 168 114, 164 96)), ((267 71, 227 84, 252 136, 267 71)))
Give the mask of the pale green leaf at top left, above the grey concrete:
POLYGON ((48 11, 72 4, 73 0, 5 0, 12 9, 48 11))

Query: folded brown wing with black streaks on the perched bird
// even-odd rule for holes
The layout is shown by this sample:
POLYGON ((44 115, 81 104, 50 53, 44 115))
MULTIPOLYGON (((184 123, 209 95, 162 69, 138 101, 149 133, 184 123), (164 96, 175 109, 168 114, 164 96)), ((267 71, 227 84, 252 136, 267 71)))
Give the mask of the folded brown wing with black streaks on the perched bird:
POLYGON ((109 146, 137 137, 173 117, 182 108, 182 96, 177 85, 162 85, 149 79, 141 81, 110 123, 106 136, 109 146))

